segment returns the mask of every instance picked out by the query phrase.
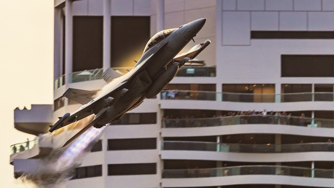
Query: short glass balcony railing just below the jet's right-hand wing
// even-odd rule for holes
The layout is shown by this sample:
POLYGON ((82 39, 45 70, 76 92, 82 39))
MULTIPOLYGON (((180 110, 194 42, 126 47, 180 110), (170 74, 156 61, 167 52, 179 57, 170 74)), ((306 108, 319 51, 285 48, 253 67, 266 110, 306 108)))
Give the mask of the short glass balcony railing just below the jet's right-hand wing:
POLYGON ((216 67, 183 66, 176 77, 216 77, 216 67))

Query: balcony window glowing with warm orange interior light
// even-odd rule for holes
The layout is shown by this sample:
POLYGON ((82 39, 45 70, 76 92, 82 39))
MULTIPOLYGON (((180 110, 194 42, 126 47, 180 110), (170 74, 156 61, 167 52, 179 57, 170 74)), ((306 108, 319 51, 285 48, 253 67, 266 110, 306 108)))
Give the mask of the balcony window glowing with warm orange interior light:
POLYGON ((275 102, 275 84, 223 84, 222 91, 223 101, 275 102))

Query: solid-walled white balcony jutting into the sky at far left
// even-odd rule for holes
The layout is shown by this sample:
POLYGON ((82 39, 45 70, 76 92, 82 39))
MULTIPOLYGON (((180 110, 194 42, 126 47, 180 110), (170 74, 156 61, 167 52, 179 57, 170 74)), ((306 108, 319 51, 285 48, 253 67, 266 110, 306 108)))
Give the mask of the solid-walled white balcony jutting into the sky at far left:
POLYGON ((47 133, 52 125, 52 105, 31 105, 31 109, 14 110, 14 127, 22 132, 39 135, 47 133))

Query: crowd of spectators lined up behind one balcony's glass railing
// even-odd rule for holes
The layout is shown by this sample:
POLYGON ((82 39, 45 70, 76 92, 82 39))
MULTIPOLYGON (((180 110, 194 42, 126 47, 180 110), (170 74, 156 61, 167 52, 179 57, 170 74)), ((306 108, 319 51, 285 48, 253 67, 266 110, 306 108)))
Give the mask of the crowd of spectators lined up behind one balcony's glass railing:
POLYGON ((311 124, 311 119, 305 118, 302 113, 299 117, 291 116, 288 112, 274 112, 267 110, 263 111, 239 111, 228 112, 224 115, 213 115, 211 117, 203 114, 201 117, 194 117, 186 115, 181 117, 174 117, 167 115, 162 117, 163 127, 207 127, 219 125, 237 125, 237 124, 281 124, 281 125, 298 125, 306 126, 311 124), (225 118, 224 118, 225 117, 225 118))

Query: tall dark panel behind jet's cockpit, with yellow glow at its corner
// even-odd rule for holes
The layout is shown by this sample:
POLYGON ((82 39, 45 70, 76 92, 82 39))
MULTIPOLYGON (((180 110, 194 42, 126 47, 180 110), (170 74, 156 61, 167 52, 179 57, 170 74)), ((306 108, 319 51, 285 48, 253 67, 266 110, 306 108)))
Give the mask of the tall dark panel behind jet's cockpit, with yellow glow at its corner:
POLYGON ((149 16, 112 16, 111 67, 134 66, 150 38, 149 16))

